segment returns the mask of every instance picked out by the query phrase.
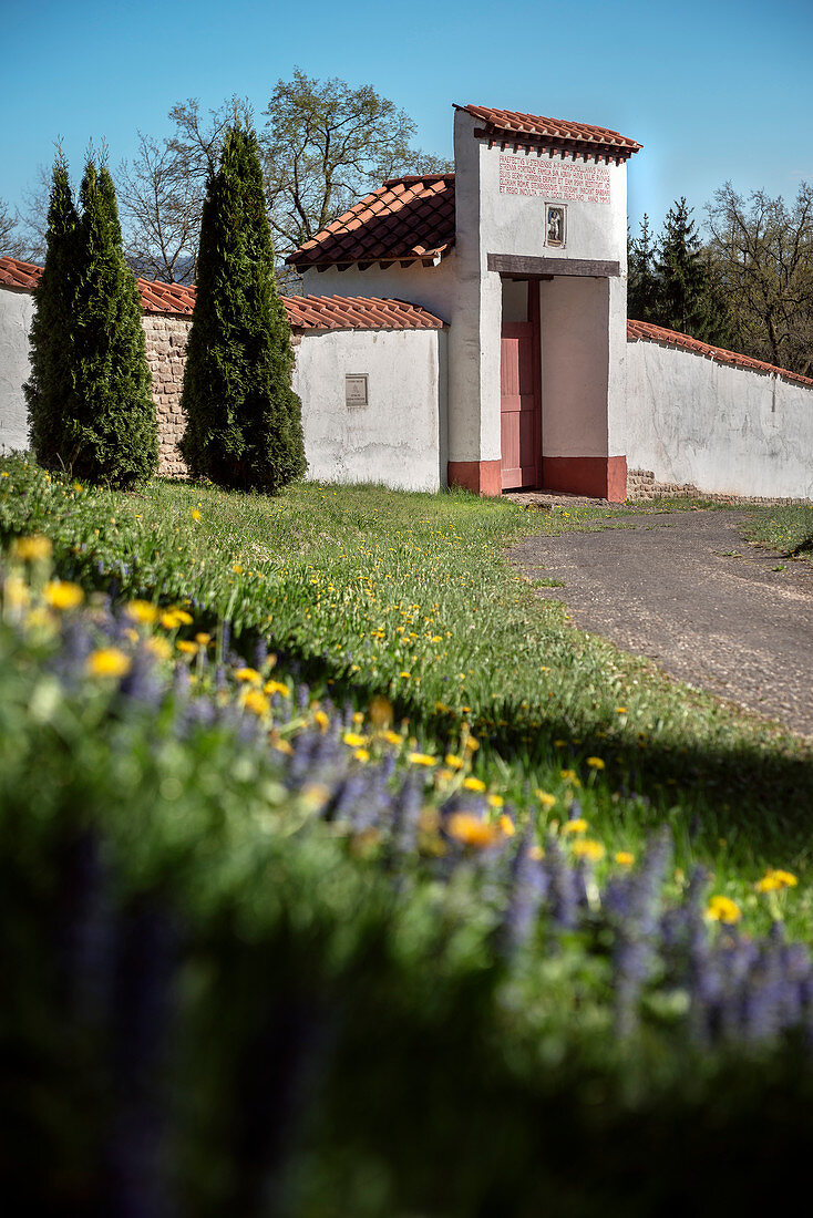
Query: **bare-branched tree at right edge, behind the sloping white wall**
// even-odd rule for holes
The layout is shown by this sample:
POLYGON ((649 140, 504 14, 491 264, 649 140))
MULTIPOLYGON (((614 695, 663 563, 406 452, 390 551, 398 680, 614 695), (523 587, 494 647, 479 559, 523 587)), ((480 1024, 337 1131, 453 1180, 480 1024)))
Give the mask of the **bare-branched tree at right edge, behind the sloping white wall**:
POLYGON ((792 206, 730 181, 706 207, 737 351, 813 375, 813 186, 792 206))

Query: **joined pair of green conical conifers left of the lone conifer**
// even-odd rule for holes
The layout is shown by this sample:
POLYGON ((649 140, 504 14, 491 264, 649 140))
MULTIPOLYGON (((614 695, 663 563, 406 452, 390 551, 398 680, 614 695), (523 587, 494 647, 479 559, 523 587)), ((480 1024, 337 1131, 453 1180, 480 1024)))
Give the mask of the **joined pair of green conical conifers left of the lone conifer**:
POLYGON ((26 390, 34 451, 50 469, 124 488, 158 456, 141 302, 104 166, 88 162, 79 200, 80 218, 59 160, 26 390))

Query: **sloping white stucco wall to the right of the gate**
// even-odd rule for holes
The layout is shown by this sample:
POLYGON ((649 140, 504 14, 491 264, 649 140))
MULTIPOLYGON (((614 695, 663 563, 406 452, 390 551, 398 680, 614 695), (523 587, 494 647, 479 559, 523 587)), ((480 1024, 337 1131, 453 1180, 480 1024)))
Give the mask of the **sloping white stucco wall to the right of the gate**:
POLYGON ((627 459, 657 482, 813 498, 813 389, 703 356, 629 342, 627 459))

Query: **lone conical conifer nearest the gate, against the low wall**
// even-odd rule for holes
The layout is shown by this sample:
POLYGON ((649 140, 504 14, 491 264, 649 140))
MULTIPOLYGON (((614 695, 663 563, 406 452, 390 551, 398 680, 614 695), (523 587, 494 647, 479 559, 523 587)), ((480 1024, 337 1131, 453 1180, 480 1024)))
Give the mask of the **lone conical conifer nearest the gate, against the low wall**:
POLYGON ((186 346, 190 471, 269 493, 305 473, 290 325, 274 280, 257 139, 235 123, 210 175, 186 346))

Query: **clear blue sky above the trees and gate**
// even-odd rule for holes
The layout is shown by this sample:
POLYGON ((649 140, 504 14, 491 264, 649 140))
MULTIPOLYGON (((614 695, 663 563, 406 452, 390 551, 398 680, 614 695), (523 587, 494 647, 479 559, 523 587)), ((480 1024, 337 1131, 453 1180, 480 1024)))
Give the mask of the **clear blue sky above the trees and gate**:
POLYGON ((169 106, 236 93, 262 111, 295 65, 371 83, 451 156, 452 102, 611 127, 644 144, 629 213, 659 225, 686 195, 702 216, 731 179, 792 197, 813 181, 813 0, 2 0, 0 197, 12 207, 63 139, 111 164, 169 106))

